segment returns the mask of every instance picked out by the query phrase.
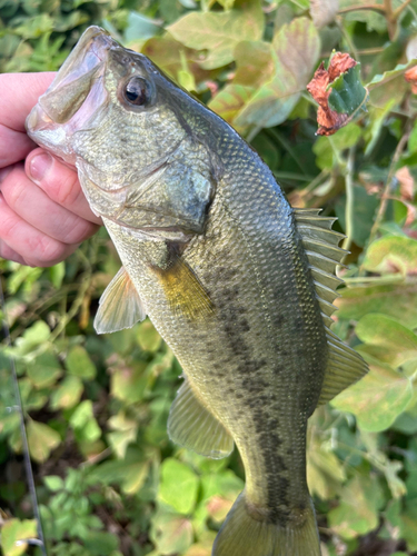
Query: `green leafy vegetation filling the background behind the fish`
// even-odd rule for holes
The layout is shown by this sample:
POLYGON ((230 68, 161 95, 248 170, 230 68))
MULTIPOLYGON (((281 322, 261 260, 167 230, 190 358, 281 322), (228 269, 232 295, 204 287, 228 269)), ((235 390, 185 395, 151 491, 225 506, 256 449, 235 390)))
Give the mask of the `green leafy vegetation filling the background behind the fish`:
MULTIPOLYGON (((417 554, 417 101, 405 79, 417 0, 0 0, 0 71, 56 70, 91 23, 235 126, 295 207, 339 218, 351 254, 334 330, 371 370, 310 419, 322 553, 417 554), (332 49, 361 63, 367 111, 317 137, 306 86, 332 49)), ((103 229, 50 269, 0 260, 13 346, 0 353, 4 556, 40 554, 14 544, 36 527, 9 356, 51 556, 209 556, 244 486, 237 453, 210 460, 168 440, 181 369, 152 325, 95 334, 118 268, 103 229)))

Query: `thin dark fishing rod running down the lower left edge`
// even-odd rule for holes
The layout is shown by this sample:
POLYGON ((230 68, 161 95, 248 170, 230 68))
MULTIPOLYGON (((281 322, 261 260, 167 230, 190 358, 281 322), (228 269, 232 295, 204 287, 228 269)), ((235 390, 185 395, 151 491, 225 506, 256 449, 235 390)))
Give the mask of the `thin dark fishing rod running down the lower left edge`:
MULTIPOLYGON (((1 277, 0 277, 0 308, 2 309, 2 312, 3 312, 3 319, 2 319, 1 327, 2 327, 3 334, 4 334, 6 345, 11 346, 10 329, 9 329, 8 317, 7 317, 7 312, 6 312, 6 304, 4 304, 4 295, 3 295, 3 287, 1 284, 1 277)), ((14 408, 20 414, 20 434, 21 434, 21 438, 22 438, 26 478, 28 481, 29 494, 30 494, 30 498, 32 502, 33 516, 34 516, 34 519, 37 520, 37 529, 38 529, 38 537, 39 537, 39 538, 33 538, 33 539, 24 539, 24 540, 21 540, 21 543, 37 545, 40 547, 42 555, 48 556, 46 544, 44 544, 42 522, 40 519, 40 512, 39 512, 39 505, 38 505, 37 490, 36 490, 36 486, 34 486, 32 464, 30 461, 30 455, 29 455, 28 436, 26 434, 24 414, 23 414, 22 400, 20 397, 18 375, 16 373, 14 359, 10 355, 9 355, 9 363, 10 363, 11 377, 12 377, 13 389, 14 389, 14 398, 17 401, 17 405, 14 406, 14 408)), ((20 543, 20 540, 19 540, 19 543, 20 543)))

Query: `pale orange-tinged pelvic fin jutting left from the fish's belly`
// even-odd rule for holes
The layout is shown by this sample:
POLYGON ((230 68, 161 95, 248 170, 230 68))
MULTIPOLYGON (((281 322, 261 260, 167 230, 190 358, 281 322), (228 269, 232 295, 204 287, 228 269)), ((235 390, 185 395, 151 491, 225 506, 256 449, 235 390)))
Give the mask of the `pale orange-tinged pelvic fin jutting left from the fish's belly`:
POLYGON ((108 334, 131 328, 145 317, 146 310, 139 294, 125 267, 121 267, 100 297, 99 310, 95 318, 96 331, 108 334))

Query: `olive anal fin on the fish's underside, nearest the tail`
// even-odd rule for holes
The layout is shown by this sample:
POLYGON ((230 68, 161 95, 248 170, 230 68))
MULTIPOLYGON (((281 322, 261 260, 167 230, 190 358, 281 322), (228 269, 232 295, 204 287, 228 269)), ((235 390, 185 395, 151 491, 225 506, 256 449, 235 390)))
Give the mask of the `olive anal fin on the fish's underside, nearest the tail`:
POLYGON ((207 409, 187 378, 171 405, 168 435, 173 443, 214 459, 221 459, 234 449, 230 434, 207 409))

